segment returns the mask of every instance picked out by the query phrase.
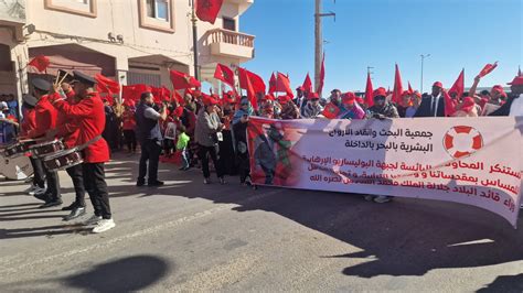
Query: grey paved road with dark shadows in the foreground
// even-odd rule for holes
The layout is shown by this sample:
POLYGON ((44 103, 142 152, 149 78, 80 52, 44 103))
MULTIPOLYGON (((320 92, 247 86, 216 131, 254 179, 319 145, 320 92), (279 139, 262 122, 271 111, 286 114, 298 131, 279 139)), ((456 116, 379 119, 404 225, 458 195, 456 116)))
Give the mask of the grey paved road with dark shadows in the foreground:
MULTIPOLYGON (((167 186, 137 188, 136 161, 120 154, 107 166, 117 227, 102 235, 1 181, 2 291, 523 292, 523 229, 489 211, 252 191, 236 177, 206 186, 170 165, 167 186)), ((68 204, 71 180, 61 181, 68 204)))

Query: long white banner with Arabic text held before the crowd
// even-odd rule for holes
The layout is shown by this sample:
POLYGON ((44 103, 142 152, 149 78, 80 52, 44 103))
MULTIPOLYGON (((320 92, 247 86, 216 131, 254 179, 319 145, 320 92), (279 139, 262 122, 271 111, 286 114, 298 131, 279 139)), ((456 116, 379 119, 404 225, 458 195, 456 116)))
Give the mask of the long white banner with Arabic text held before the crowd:
POLYGON ((521 117, 252 118, 250 172, 260 185, 462 203, 515 227, 522 132, 521 117))

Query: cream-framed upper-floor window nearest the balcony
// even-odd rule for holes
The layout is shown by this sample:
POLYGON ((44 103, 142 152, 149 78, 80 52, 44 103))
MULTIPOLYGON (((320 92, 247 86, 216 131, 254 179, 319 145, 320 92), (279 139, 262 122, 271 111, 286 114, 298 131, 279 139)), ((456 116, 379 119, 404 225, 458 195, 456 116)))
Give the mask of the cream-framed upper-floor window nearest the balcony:
POLYGON ((174 33, 173 0, 138 0, 140 28, 174 33))

